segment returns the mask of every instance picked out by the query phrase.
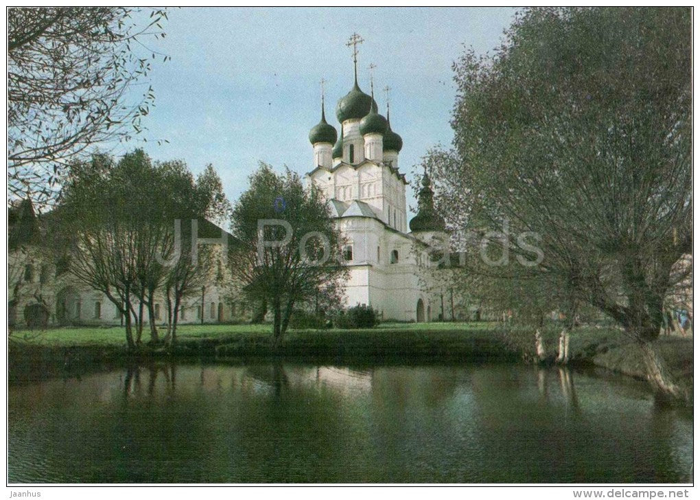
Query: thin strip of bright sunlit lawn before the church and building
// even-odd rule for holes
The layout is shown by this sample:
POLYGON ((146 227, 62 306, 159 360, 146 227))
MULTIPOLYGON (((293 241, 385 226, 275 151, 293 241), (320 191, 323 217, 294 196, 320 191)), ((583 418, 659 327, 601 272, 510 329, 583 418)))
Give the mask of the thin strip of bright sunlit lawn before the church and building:
MULTIPOLYGON (((480 323, 383 323, 377 328, 355 330, 357 333, 373 332, 381 335, 388 331, 405 331, 405 332, 446 332, 446 331, 485 331, 491 330, 496 324, 489 322, 480 323)), ((160 335, 165 335, 165 329, 158 330, 160 335)), ((304 331, 308 333, 309 331, 304 331)), ((339 332, 339 330, 318 330, 319 335, 324 333, 339 332)), ((294 336, 297 333, 290 330, 289 335, 294 336)), ((180 340, 195 340, 195 339, 216 339, 230 335, 239 336, 241 334, 250 334, 255 338, 260 338, 266 335, 272 335, 272 325, 251 325, 251 324, 204 324, 204 325, 181 325, 177 329, 178 338, 180 340)), ((47 346, 76 346, 76 345, 125 345, 125 331, 123 326, 99 327, 99 326, 78 326, 66 328, 50 328, 44 331, 29 331, 16 330, 12 334, 13 340, 20 343, 29 343, 34 345, 47 346)), ((144 329, 144 342, 148 341, 150 333, 148 329, 144 329)))

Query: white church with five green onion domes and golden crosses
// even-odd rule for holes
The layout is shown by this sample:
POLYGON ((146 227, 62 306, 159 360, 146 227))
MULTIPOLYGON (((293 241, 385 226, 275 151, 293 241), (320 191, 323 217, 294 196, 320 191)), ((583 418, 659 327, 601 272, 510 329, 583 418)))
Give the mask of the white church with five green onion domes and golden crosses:
POLYGON ((444 221, 433 209, 428 175, 423 176, 419 211, 407 225, 405 175, 399 169, 403 141, 377 110, 372 95, 360 90, 356 43, 355 82, 339 99, 336 116, 340 134, 325 120, 309 132, 314 169, 306 175, 325 195, 339 230, 348 242, 343 249, 350 278, 344 286, 346 306, 366 304, 384 320, 435 321, 454 318, 454 298, 430 284, 428 258, 421 244, 444 232, 444 221))

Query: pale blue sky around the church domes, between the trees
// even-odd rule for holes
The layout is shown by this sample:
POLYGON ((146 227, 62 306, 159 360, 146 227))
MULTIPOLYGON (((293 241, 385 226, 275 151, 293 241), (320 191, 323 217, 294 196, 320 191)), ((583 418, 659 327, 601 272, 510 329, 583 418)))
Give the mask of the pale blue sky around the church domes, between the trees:
MULTIPOLYGON (((428 148, 451 143, 452 62, 464 46, 493 50, 513 14, 511 8, 175 9, 164 26, 167 37, 145 41, 172 60, 153 67, 148 142, 129 147, 142 146, 155 160, 185 160, 195 173, 213 164, 232 201, 260 160, 308 172, 307 136, 321 114, 319 82, 327 81, 326 116, 339 130, 335 104, 353 82, 345 43, 358 32, 365 39, 360 87, 370 92, 372 63, 375 90, 392 88, 391 125, 404 142, 399 167, 411 181, 428 148)), ((386 110, 384 92, 377 93, 386 110)))

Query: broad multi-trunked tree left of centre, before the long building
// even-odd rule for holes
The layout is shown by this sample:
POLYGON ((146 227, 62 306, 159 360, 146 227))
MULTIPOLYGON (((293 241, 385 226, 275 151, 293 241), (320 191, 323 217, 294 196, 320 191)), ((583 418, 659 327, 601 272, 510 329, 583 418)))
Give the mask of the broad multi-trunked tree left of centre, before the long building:
POLYGON ((167 340, 174 342, 181 300, 211 267, 207 252, 192 258, 196 244, 180 228, 210 213, 221 195, 210 187, 195 183, 183 162, 153 163, 141 150, 116 163, 94 155, 89 163, 71 165, 56 209, 57 235, 65 242, 60 251, 71 257, 70 272, 125 316, 130 349, 141 340, 144 305, 151 340, 158 342, 154 305, 161 290, 168 305, 167 340), (139 327, 135 340, 132 318, 139 327))

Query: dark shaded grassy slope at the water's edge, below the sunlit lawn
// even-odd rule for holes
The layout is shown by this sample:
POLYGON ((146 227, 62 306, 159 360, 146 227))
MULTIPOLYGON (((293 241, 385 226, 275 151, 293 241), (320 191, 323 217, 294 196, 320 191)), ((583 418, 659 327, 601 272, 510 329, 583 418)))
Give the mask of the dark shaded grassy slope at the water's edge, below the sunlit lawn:
MULTIPOLYGON (((128 363, 230 359, 312 363, 525 363, 525 350, 513 342, 517 334, 503 328, 374 328, 371 330, 302 330, 286 335, 280 349, 262 331, 218 333, 178 340, 172 351, 162 345, 141 345, 135 352, 96 342, 8 342, 8 383, 22 384, 55 377, 80 376, 128 363)), ((550 332, 549 345, 556 335, 550 332)), ((662 337, 659 351, 676 378, 692 394, 692 338, 662 337)), ((551 353, 550 353, 551 354, 551 353)), ((569 366, 602 368, 610 373, 647 380, 633 343, 619 332, 587 329, 572 335, 569 366)), ((692 401, 687 404, 692 405, 692 401)))

